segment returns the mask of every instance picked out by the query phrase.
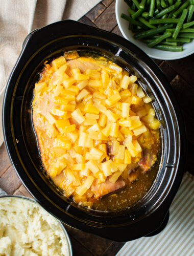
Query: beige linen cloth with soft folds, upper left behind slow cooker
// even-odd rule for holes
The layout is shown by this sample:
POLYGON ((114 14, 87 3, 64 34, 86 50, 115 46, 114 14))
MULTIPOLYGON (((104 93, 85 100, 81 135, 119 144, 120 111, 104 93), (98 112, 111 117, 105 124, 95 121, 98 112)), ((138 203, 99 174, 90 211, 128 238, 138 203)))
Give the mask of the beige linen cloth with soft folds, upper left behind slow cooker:
POLYGON ((0 146, 2 103, 22 41, 36 28, 61 19, 78 20, 101 0, 0 0, 0 146))

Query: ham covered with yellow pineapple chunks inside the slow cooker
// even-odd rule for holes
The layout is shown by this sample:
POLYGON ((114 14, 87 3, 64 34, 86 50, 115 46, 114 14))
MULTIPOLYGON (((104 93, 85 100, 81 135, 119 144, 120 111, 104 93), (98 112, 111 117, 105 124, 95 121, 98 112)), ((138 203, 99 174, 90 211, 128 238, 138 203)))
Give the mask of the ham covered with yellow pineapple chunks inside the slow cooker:
POLYGON ((92 199, 125 185, 128 166, 153 143, 160 122, 136 82, 104 57, 71 52, 45 64, 33 124, 44 168, 66 197, 91 207, 92 199))

